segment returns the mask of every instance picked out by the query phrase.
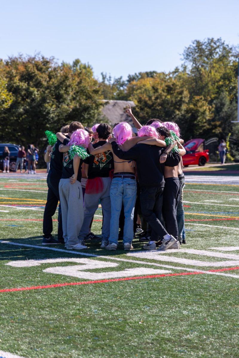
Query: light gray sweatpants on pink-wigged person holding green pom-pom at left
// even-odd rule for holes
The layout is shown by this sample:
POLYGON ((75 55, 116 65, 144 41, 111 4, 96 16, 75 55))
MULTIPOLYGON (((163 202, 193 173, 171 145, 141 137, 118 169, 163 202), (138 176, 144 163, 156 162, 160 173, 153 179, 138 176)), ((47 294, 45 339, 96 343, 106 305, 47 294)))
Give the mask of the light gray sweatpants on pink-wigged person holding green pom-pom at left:
POLYGON ((68 245, 78 244, 78 233, 84 219, 81 183, 76 180, 75 184, 71 184, 70 179, 61 179, 59 195, 64 242, 68 245))

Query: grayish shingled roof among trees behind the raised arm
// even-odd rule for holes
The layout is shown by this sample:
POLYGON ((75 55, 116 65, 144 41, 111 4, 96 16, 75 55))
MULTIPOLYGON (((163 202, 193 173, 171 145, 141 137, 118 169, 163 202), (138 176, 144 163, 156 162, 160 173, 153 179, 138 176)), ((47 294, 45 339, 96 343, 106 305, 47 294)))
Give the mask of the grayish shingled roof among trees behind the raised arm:
POLYGON ((117 122, 127 122, 135 129, 132 119, 125 113, 128 104, 131 108, 135 107, 133 101, 103 100, 103 102, 106 102, 106 105, 102 108, 102 113, 111 126, 117 122))

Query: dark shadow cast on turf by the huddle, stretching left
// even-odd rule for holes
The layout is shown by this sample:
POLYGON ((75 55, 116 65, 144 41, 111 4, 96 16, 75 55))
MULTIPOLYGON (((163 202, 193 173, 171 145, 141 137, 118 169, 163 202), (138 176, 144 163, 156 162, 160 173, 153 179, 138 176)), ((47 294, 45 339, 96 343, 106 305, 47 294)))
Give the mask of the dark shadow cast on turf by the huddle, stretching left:
MULTIPOLYGON (((34 247, 27 247, 27 246, 14 246, 8 245, 7 243, 0 243, 0 260, 39 260, 44 258, 59 258, 59 257, 87 257, 87 256, 79 256, 77 254, 71 253, 69 250, 68 252, 60 252, 60 251, 53 251, 53 250, 46 250, 46 246, 42 246, 42 236, 31 236, 22 239, 16 238, 8 238, 8 240, 4 241, 11 241, 21 244, 27 245, 34 245, 38 246, 38 248, 34 247), (42 248, 42 250, 40 250, 42 248)), ((101 242, 98 240, 94 240, 91 243, 87 243, 88 249, 82 250, 82 253, 92 253, 94 255, 99 256, 116 256, 122 255, 128 251, 124 251, 122 241, 119 242, 118 249, 116 251, 108 251, 104 248, 100 248, 101 242)), ((144 245, 143 242, 139 242, 137 240, 133 241, 134 249, 142 249, 144 245)), ((49 248, 59 248, 61 250, 67 250, 64 245, 57 244, 57 245, 48 245, 49 248)))

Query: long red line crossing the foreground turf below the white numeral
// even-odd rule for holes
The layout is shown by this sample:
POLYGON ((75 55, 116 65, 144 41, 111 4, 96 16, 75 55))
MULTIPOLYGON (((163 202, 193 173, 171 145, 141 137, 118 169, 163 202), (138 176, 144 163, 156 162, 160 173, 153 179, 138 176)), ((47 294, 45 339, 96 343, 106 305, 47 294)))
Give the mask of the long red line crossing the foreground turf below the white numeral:
POLYGON ((156 277, 202 275, 202 274, 206 274, 207 272, 222 272, 222 271, 230 271, 230 270, 239 270, 239 267, 229 267, 229 268, 225 268, 225 269, 208 270, 206 272, 200 272, 200 271, 179 272, 177 274, 161 274, 161 275, 147 275, 147 276, 136 276, 136 277, 122 277, 120 279, 107 279, 107 280, 81 281, 81 282, 64 282, 63 284, 53 284, 53 285, 44 285, 44 286, 31 286, 31 287, 19 287, 19 288, 13 288, 13 289, 3 289, 3 290, 0 290, 0 292, 15 292, 15 291, 30 291, 30 290, 39 290, 39 289, 51 289, 51 288, 55 288, 55 287, 64 287, 64 286, 103 284, 105 282, 154 279, 156 277))

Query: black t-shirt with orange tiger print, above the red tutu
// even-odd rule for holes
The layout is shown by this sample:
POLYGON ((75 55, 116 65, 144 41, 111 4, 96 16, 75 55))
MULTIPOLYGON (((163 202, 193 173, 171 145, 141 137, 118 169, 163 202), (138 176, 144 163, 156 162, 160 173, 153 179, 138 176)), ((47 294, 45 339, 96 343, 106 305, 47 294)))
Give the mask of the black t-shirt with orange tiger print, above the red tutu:
MULTIPOLYGON (((98 148, 105 143, 106 141, 101 140, 98 143, 93 144, 93 147, 98 148)), ((84 160, 84 163, 89 164, 88 179, 94 179, 97 176, 100 176, 101 178, 107 178, 109 176, 110 170, 114 169, 113 154, 110 150, 100 154, 90 155, 84 160)))

